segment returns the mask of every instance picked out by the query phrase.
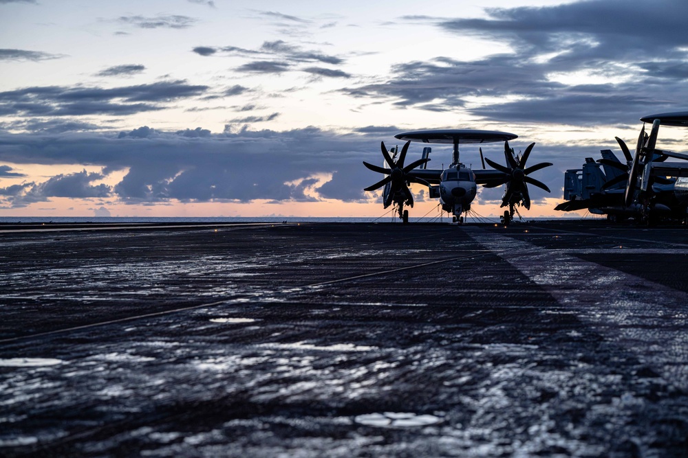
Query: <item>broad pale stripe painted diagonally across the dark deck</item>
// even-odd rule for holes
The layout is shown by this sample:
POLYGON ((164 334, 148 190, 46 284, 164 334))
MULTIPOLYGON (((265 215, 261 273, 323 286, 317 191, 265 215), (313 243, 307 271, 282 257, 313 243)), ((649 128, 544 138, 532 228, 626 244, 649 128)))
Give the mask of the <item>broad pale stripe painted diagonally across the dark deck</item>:
MULTIPOLYGON (((582 260, 572 254, 574 249, 544 249, 477 227, 464 230, 544 288, 561 306, 576 312, 605 339, 634 352, 667 382, 688 388, 687 293, 582 260)), ((651 248, 642 252, 667 253, 651 248)), ((679 248, 671 253, 688 250, 679 248)))

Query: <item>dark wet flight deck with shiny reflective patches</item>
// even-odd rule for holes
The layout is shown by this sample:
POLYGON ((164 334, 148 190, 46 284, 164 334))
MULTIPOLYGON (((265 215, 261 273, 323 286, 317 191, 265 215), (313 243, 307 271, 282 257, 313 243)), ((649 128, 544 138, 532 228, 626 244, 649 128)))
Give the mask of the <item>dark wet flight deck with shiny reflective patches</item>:
POLYGON ((685 228, 3 229, 3 456, 688 453, 685 228))

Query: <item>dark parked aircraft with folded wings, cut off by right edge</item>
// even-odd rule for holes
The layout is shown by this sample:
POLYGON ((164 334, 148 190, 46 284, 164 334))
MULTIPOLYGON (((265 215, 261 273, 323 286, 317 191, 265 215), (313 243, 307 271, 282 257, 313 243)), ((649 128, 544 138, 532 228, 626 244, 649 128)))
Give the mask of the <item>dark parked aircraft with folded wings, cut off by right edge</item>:
POLYGON ((555 207, 572 211, 588 209, 594 214, 607 214, 612 221, 634 218, 652 224, 661 218, 685 219, 688 209, 688 162, 665 162, 669 157, 688 160, 688 154, 656 148, 658 130, 664 126, 688 126, 688 112, 661 113, 641 118, 652 122, 649 135, 645 124, 638 135, 635 154, 616 137, 626 159, 622 163, 611 150, 602 150, 605 172, 592 158, 586 158, 582 169, 567 170, 564 176, 564 198, 555 207))

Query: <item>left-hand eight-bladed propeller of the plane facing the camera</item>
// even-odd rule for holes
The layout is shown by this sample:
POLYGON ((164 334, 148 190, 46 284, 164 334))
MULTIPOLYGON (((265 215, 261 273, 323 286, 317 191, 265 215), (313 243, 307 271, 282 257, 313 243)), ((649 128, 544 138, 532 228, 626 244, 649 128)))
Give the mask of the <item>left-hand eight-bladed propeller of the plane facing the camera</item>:
POLYGON ((387 185, 387 183, 390 183, 389 193, 385 193, 385 208, 391 205, 392 201, 394 201, 395 194, 398 192, 402 193, 405 197, 405 202, 409 206, 413 207, 413 194, 411 194, 411 190, 409 190, 407 183, 420 183, 426 186, 430 185, 430 183, 424 179, 408 175, 408 173, 414 168, 418 167, 418 165, 427 163, 430 160, 429 158, 418 159, 417 161, 413 161, 409 165, 405 166, 404 162, 406 160, 406 153, 409 151, 410 144, 411 141, 407 141, 406 144, 404 144, 404 146, 401 148, 399 159, 394 162, 394 159, 389 156, 387 148, 385 148, 385 142, 380 141, 380 150, 382 151, 385 162, 387 165, 389 165, 389 168, 379 167, 378 165, 373 165, 363 161, 363 165, 365 165, 369 170, 387 175, 374 185, 370 185, 363 189, 364 191, 374 191, 380 187, 383 187, 384 185, 387 185))

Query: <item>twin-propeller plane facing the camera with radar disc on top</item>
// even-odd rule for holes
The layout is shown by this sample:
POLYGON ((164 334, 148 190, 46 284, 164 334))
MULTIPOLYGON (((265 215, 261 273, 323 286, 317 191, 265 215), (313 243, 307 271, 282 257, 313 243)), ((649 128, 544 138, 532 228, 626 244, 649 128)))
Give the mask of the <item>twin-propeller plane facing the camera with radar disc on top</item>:
POLYGON ((471 202, 475 198, 477 185, 483 185, 483 187, 506 185, 504 196, 502 196, 502 207, 508 206, 508 210, 504 211, 505 225, 513 220, 515 207, 523 205, 526 209, 530 209, 530 194, 526 183, 550 192, 544 183, 528 175, 552 164, 542 162, 526 168, 530 151, 533 150, 535 144, 528 145, 523 154, 516 155, 508 144, 509 140, 517 138, 517 135, 512 133, 473 129, 414 130, 397 134, 394 137, 406 140, 401 152, 393 148, 390 154, 390 151, 385 147, 385 142, 380 142, 380 150, 383 153, 385 165, 389 168, 363 161, 363 165, 369 170, 387 175, 374 185, 366 187, 365 191, 378 190, 384 186, 384 207, 387 208, 394 204, 398 216, 403 222, 409 221, 409 211, 404 206, 413 207, 413 194, 409 190, 411 183, 427 186, 430 198, 439 198, 442 209, 453 214, 453 221, 459 223, 464 220, 462 214, 471 209, 471 202), (446 169, 428 169, 427 163, 430 160, 431 149, 424 148, 421 159, 405 165, 411 141, 453 145, 451 164, 446 169), (483 144, 495 141, 504 141, 506 165, 484 159, 482 148, 480 148, 482 170, 473 170, 460 162, 460 144, 483 144), (491 165, 494 170, 485 169, 485 162, 491 165))

